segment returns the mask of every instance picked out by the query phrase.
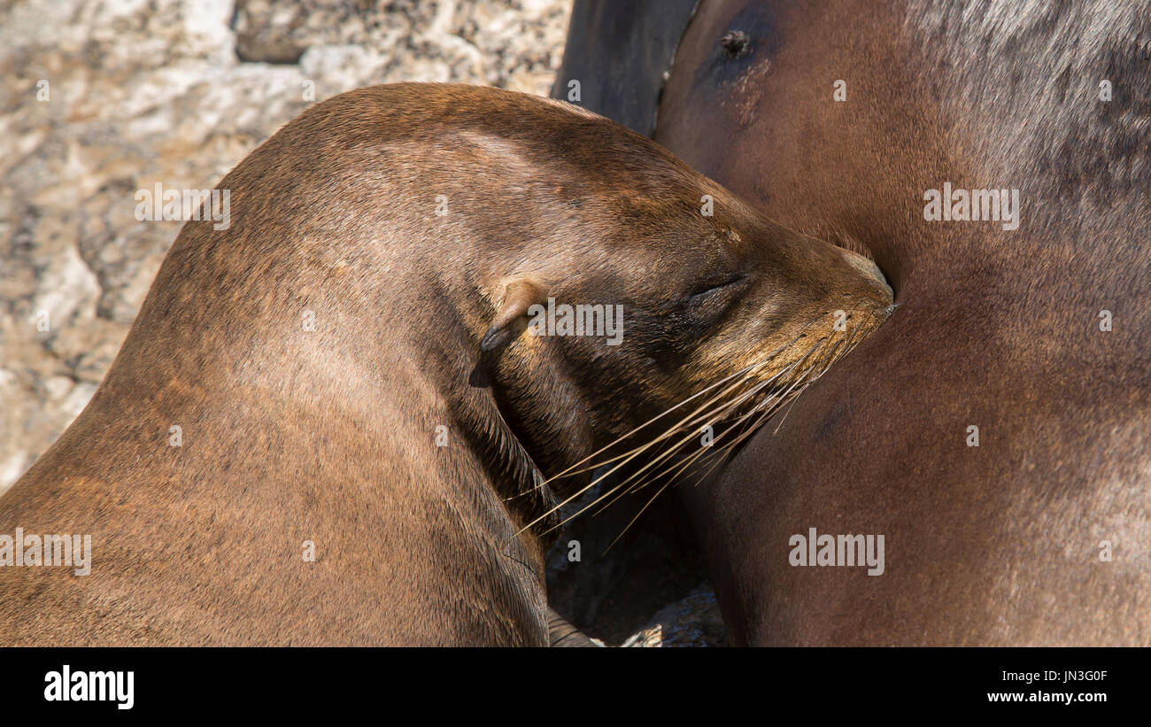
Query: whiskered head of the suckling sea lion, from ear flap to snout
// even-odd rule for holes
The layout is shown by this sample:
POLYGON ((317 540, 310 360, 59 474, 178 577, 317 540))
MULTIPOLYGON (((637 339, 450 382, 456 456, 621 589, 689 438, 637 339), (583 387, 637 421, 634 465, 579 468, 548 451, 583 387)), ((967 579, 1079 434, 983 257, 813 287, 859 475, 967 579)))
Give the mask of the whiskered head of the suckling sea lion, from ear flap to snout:
POLYGON ((709 426, 738 424, 731 442, 890 315, 866 258, 771 222, 624 127, 554 106, 503 175, 543 223, 503 247, 477 331, 481 368, 548 469, 709 426))

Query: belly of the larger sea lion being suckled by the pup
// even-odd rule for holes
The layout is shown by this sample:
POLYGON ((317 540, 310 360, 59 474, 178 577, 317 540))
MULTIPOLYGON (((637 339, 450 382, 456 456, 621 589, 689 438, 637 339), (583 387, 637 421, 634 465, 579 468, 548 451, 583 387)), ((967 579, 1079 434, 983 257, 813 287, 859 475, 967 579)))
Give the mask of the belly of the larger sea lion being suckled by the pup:
POLYGON ((1151 643, 1148 48, 1143 1, 701 2, 655 139, 900 305, 680 490, 735 643, 1151 643))

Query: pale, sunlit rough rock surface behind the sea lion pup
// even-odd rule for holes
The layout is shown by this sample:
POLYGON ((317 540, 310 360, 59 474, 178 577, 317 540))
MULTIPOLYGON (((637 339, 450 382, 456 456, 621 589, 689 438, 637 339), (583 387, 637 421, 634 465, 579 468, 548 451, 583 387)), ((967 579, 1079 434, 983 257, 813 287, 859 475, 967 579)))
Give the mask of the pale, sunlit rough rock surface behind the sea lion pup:
POLYGON ((209 189, 311 102, 358 86, 547 95, 570 6, 0 3, 0 493, 91 398, 178 232, 135 219, 137 190, 209 189))

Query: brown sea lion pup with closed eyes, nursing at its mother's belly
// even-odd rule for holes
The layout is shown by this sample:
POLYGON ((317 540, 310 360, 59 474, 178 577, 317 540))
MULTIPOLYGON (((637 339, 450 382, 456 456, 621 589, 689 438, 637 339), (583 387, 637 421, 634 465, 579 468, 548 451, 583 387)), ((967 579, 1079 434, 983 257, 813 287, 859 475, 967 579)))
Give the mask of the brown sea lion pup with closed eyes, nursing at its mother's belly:
POLYGON ((509 91, 343 93, 220 189, 230 225, 184 225, 0 498, 0 533, 92 542, 89 575, 0 567, 0 643, 546 645, 576 487, 546 477, 709 389, 753 421, 890 313, 862 258, 509 91), (585 304, 622 306, 618 340, 535 335, 585 304))

